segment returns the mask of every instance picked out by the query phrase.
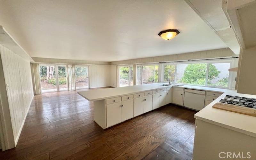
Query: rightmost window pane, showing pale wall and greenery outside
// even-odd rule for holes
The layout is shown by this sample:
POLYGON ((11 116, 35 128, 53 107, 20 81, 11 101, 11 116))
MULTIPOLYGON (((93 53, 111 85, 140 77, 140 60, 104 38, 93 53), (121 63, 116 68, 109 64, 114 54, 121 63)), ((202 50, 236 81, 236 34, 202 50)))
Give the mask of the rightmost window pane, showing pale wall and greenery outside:
POLYGON ((210 63, 208 71, 208 86, 228 87, 228 68, 230 63, 210 63))

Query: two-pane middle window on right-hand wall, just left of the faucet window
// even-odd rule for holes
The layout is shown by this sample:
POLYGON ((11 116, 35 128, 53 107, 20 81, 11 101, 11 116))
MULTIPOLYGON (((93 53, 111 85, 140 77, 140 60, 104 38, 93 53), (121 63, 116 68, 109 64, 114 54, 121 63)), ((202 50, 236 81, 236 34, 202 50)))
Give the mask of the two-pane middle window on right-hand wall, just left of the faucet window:
POLYGON ((137 66, 137 84, 158 82, 158 65, 137 66))

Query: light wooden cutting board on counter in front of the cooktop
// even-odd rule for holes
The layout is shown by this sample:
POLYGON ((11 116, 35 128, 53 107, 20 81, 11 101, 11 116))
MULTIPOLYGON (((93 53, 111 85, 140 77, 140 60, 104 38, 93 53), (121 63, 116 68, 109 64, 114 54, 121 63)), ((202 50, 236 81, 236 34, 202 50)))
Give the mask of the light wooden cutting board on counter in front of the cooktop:
POLYGON ((215 103, 212 107, 256 117, 256 109, 254 108, 236 106, 236 105, 226 104, 226 103, 215 103))

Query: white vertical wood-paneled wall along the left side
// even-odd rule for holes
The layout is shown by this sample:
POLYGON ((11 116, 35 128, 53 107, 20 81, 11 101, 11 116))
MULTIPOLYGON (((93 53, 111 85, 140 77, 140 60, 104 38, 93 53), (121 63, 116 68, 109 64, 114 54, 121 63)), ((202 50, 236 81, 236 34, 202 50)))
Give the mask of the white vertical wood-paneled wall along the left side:
POLYGON ((30 62, 1 44, 0 53, 16 145, 34 96, 30 62))

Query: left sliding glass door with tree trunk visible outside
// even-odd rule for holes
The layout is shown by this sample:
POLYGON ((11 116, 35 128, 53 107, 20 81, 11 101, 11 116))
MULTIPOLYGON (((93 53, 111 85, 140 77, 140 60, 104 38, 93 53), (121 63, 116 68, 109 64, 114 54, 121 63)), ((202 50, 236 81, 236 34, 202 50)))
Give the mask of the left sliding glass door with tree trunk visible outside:
POLYGON ((68 90, 66 66, 40 65, 40 79, 42 92, 68 90))

